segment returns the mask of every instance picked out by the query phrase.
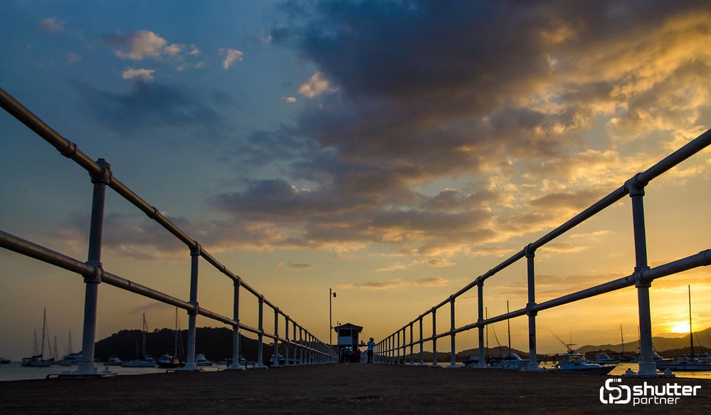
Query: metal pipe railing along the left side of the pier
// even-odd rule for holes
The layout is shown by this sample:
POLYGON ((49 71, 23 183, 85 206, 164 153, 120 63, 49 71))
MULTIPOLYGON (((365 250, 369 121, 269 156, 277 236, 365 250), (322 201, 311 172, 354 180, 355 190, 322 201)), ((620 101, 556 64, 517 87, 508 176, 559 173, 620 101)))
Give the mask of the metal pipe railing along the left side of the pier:
POLYGON ((78 365, 77 374, 96 374, 96 365, 94 363, 94 343, 96 331, 96 308, 98 303, 98 288, 100 283, 107 283, 123 290, 130 291, 143 295, 147 298, 158 300, 162 303, 174 305, 177 308, 186 310, 188 314, 188 347, 187 359, 184 370, 198 369, 195 364, 195 331, 196 317, 202 315, 212 320, 222 322, 232 327, 232 364, 229 369, 242 369, 239 365, 239 335, 240 330, 245 330, 257 335, 257 368, 265 367, 263 362, 263 338, 268 337, 274 342, 274 366, 278 366, 278 352, 280 343, 284 345, 285 362, 290 365, 290 362, 315 364, 335 362, 337 355, 329 345, 320 341, 312 335, 311 332, 305 329, 302 325, 297 324, 289 315, 280 310, 274 303, 270 302, 264 295, 259 293, 251 285, 248 285, 239 275, 236 275, 226 266, 217 261, 214 256, 211 256, 202 246, 190 238, 184 231, 175 226, 167 217, 160 211, 151 206, 147 201, 135 194, 129 187, 113 177, 110 164, 104 159, 98 159, 94 162, 88 155, 78 149, 75 143, 65 139, 58 132, 54 131, 45 122, 40 120, 30 110, 19 103, 15 98, 6 93, 0 88, 0 106, 9 112, 13 117, 26 125, 30 130, 42 137, 46 142, 53 145, 60 154, 64 157, 72 159, 85 169, 93 183, 93 199, 91 206, 91 221, 89 231, 89 249, 88 261, 82 262, 75 258, 70 258, 62 253, 52 251, 51 249, 40 246, 30 241, 25 241, 22 238, 11 235, 4 231, 0 231, 0 247, 21 253, 24 256, 38 259, 45 263, 64 268, 73 273, 83 275, 85 282, 85 303, 84 303, 84 324, 82 337, 82 362, 78 365), (173 234, 187 248, 189 248, 191 266, 190 266, 190 296, 189 300, 181 300, 172 297, 159 290, 137 284, 131 280, 127 280, 118 275, 109 273, 102 268, 101 264, 101 236, 102 224, 104 216, 104 201, 106 187, 110 187, 117 194, 120 194, 124 199, 130 201, 131 204, 144 212, 150 219, 156 221, 163 226, 167 231, 173 234), (198 303, 198 263, 199 258, 204 258, 211 266, 214 266, 223 275, 226 275, 233 283, 233 316, 225 317, 216 312, 206 310, 199 306, 198 303), (254 295, 258 300, 258 327, 251 327, 240 322, 239 318, 239 297, 241 289, 254 295), (264 330, 264 305, 268 305, 274 310, 274 331, 272 333, 264 330), (284 335, 279 335, 279 315, 284 318, 284 335), (292 327, 290 336, 290 326, 292 327), (290 349, 292 349, 290 351, 290 349), (290 353, 292 358, 290 359, 290 353))

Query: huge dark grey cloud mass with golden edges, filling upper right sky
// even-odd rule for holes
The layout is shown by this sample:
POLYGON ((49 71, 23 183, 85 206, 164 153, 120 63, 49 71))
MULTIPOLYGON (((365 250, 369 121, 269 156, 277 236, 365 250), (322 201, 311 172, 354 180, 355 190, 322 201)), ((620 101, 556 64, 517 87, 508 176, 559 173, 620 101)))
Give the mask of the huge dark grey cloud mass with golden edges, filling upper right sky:
POLYGON ((394 243, 423 261, 542 231, 604 190, 562 187, 569 193, 540 196, 528 212, 502 205, 532 178, 610 176, 619 157, 590 149, 595 117, 614 114, 623 126, 649 111, 688 116, 654 112, 660 102, 649 85, 668 93, 707 73, 690 63, 702 46, 685 48, 708 31, 699 16, 710 9, 700 1, 288 1, 272 41, 318 72, 300 91, 295 124, 258 132, 241 149, 254 164, 285 162, 283 177, 250 179, 212 202, 234 221, 268 226, 280 246, 394 243), (512 184, 416 190, 457 175, 489 182, 489 174, 512 184))

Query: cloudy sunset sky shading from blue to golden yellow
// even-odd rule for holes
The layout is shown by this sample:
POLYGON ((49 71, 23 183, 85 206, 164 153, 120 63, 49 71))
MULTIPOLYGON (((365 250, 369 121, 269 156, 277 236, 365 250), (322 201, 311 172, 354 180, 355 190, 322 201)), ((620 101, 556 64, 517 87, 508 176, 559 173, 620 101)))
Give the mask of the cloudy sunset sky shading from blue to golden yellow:
MULTIPOLYGON (((329 288, 334 323, 381 340, 707 130, 710 22, 707 1, 9 0, 0 86, 322 340, 329 288)), ((88 174, 4 112, 0 146, 0 229, 84 261, 88 174)), ((710 248, 710 182, 705 150, 647 187, 651 266, 710 248)), ((106 270, 188 298, 189 250, 111 191, 103 248, 106 270)), ((70 330, 76 349, 82 279, 0 261, 0 355, 31 353, 43 308, 60 353, 70 330)), ((537 301, 633 268, 626 197, 537 251, 537 301)), ((710 276, 653 283, 653 335, 688 330, 687 285, 695 329, 711 326, 710 276)), ((201 261, 201 307, 231 315, 231 300, 201 261)), ((523 261, 485 285, 490 315, 507 300, 527 303, 523 261)), ((256 309, 244 293, 242 321, 256 309)), ((97 337, 173 312, 102 285, 97 337)), ((511 325, 526 350, 525 317, 511 325)), ((564 350, 551 331, 634 341, 635 289, 537 325, 539 352, 564 350)))

